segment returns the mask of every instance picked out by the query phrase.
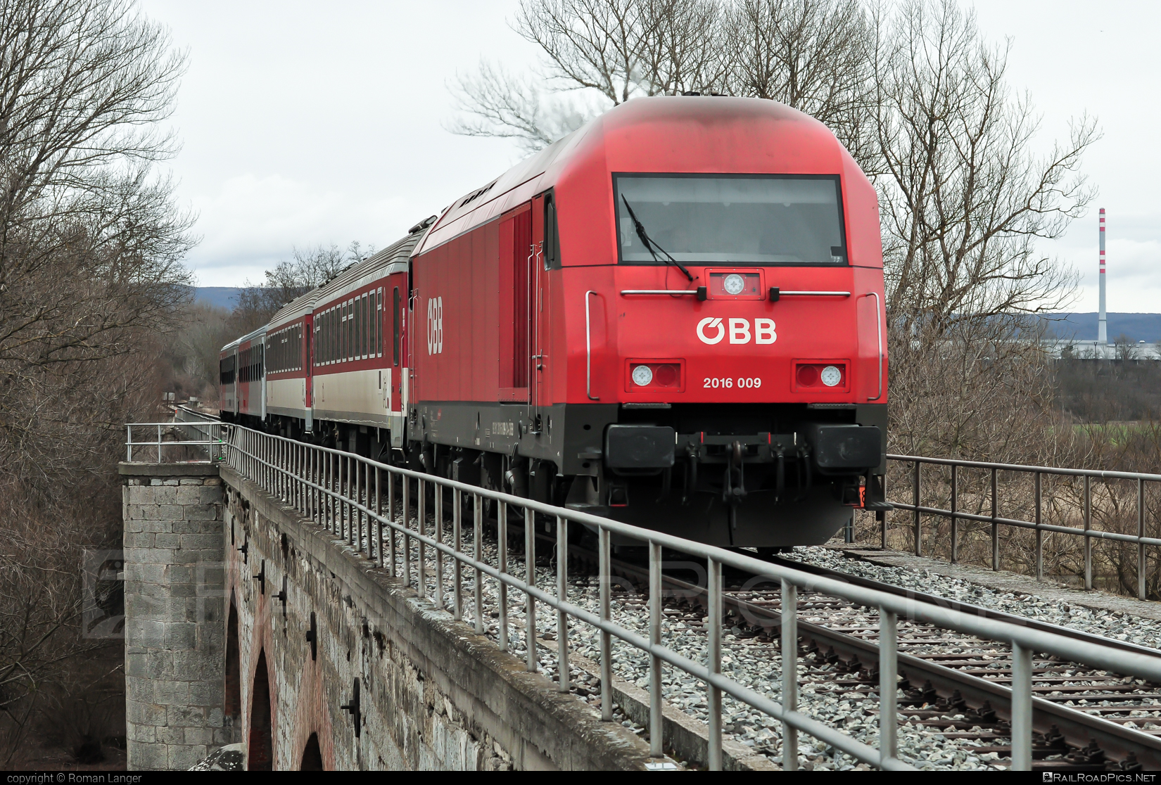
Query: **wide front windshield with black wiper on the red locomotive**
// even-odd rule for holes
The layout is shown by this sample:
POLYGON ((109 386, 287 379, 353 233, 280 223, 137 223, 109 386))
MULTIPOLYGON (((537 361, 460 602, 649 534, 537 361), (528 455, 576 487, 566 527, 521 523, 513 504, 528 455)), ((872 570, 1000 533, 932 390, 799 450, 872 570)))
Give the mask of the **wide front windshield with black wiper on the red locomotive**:
POLYGON ((846 264, 837 177, 618 174, 613 188, 622 264, 666 264, 658 249, 683 264, 846 264))

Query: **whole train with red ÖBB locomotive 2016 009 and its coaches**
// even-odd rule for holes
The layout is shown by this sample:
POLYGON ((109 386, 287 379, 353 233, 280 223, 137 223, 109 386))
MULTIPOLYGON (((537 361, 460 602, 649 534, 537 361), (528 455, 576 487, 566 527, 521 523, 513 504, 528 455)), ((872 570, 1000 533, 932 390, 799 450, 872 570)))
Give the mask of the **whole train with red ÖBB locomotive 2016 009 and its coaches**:
POLYGON ((222 350, 243 422, 714 545, 884 509, 875 192, 758 99, 621 105, 222 350))

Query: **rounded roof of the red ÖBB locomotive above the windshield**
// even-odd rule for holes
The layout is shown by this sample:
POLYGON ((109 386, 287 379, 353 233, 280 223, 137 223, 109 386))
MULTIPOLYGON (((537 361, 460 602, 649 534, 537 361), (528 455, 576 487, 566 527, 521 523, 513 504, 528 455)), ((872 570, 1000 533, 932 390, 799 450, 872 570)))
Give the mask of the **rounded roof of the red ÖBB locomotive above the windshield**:
POLYGON ((777 101, 684 95, 633 99, 457 199, 414 255, 569 179, 599 174, 611 193, 611 172, 838 174, 848 168, 844 158, 850 156, 830 129, 777 101))

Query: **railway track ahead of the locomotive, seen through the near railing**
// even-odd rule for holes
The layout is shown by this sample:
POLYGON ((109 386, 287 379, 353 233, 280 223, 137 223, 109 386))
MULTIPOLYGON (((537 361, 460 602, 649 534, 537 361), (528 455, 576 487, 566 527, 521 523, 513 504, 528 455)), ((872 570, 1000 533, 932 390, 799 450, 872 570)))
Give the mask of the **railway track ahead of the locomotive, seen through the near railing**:
MULTIPOLYGON (((585 564, 596 554, 570 548, 585 564)), ((966 603, 916 593, 793 560, 771 559, 784 567, 848 581, 879 591, 937 603, 952 610, 1022 624, 1069 638, 1099 642, 1148 656, 1161 651, 966 603)), ((594 563, 594 562, 593 562, 594 563)), ((621 577, 644 586, 648 569, 614 561, 621 577)), ((780 588, 756 583, 752 575, 727 570, 723 592, 726 624, 740 638, 759 638, 778 646, 780 588)), ((665 575, 671 593, 666 613, 691 626, 705 615, 704 586, 665 575), (676 599, 673 599, 676 598, 676 599)), ((802 592, 798 602, 800 662, 808 672, 800 685, 816 693, 878 694, 878 610, 802 592)), ((996 765, 1010 762, 1011 658, 1007 644, 899 619, 900 722, 910 722, 944 739, 972 740, 974 754, 995 752, 996 765), (1003 758, 1008 757, 1009 761, 1003 758)), ((1055 658, 1033 658, 1033 769, 1043 771, 1145 771, 1161 769, 1161 685, 1141 683, 1055 658), (1130 727, 1126 727, 1126 723, 1130 727), (1146 726, 1154 727, 1146 727, 1146 726)))

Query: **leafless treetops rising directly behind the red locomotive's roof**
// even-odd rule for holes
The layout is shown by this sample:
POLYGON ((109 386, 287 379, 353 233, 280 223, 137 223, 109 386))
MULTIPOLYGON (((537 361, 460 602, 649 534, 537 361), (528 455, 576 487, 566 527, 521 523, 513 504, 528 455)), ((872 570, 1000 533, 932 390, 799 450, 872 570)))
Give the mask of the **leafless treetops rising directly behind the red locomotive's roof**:
POLYGON ((522 0, 513 27, 542 70, 482 62, 459 75, 453 132, 534 152, 634 96, 713 93, 802 109, 857 157, 871 138, 873 36, 858 0, 522 0))

